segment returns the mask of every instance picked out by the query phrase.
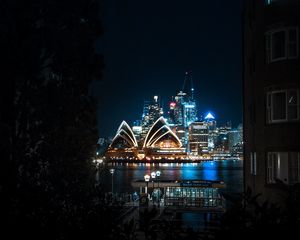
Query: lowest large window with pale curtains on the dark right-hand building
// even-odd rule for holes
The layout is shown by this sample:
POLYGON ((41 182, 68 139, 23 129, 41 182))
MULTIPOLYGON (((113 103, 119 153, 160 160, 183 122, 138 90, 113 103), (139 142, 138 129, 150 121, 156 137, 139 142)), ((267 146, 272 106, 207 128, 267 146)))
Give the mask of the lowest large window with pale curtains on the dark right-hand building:
POLYGON ((280 180, 285 184, 300 182, 299 152, 269 152, 267 182, 276 183, 280 180))

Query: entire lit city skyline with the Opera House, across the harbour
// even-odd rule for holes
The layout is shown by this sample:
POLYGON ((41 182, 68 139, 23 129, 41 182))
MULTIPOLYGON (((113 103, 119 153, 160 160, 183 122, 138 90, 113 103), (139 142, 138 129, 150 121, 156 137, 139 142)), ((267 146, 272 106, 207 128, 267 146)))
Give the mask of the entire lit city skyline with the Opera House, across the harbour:
POLYGON ((132 128, 122 121, 106 155, 110 159, 147 161, 200 161, 240 157, 242 128, 217 126, 212 112, 198 120, 193 97, 191 71, 188 71, 181 91, 169 102, 169 112, 163 116, 158 96, 145 100, 142 119, 132 128), (192 91, 192 92, 191 92, 192 91))

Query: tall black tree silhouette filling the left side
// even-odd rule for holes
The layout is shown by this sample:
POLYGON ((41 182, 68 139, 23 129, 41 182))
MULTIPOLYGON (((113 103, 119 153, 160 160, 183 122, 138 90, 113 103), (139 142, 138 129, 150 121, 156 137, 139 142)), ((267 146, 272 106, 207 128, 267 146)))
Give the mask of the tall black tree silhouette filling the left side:
POLYGON ((103 69, 95 52, 98 5, 1 1, 1 208, 10 226, 36 236, 48 231, 43 238, 70 236, 95 207, 98 136, 89 86, 103 69))

